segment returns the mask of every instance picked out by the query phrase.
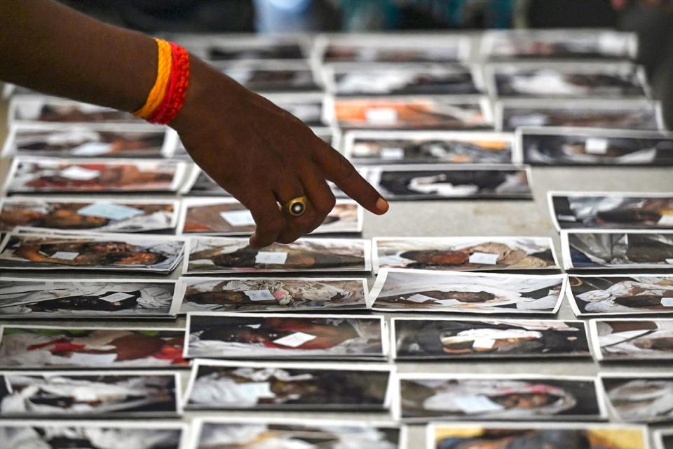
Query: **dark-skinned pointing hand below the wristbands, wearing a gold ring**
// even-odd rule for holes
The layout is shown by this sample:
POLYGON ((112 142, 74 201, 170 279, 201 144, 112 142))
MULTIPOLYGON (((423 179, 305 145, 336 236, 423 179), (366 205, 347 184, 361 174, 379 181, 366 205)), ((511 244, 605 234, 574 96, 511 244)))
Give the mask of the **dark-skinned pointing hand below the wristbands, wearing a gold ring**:
POLYGON ((171 126, 198 166, 250 209, 255 248, 292 243, 320 226, 335 202, 327 180, 372 213, 388 210, 351 163, 299 119, 196 58, 171 126), (280 208, 299 196, 308 198, 303 215, 280 208))

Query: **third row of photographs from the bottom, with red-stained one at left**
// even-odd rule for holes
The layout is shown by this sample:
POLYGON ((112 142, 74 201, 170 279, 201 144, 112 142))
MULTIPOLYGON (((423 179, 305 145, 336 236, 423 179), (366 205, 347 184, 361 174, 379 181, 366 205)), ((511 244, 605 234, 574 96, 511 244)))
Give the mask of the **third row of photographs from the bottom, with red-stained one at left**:
POLYGON ((673 319, 394 319, 378 315, 189 312, 186 329, 0 327, 0 368, 168 368, 190 358, 437 361, 673 359, 673 319), (390 334, 390 335, 388 335, 390 334), (389 339, 389 337, 392 337, 389 339), (392 340, 392 344, 390 341, 392 340), (393 350, 390 354, 390 347, 393 350))

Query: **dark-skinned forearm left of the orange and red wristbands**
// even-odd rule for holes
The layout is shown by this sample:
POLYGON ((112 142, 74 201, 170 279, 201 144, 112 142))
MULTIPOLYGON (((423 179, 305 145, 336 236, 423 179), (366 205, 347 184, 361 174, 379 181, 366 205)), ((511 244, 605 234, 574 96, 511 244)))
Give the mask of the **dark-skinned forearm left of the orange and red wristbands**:
POLYGON ((0 79, 124 111, 156 79, 156 43, 52 0, 0 1, 0 79))

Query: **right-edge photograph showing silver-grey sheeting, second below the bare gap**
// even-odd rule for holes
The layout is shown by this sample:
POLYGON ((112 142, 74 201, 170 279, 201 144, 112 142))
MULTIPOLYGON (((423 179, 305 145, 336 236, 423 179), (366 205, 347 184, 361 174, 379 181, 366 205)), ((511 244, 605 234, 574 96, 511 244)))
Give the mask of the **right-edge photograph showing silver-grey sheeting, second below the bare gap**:
POLYGON ((644 229, 561 231, 565 269, 670 269, 673 232, 644 229))

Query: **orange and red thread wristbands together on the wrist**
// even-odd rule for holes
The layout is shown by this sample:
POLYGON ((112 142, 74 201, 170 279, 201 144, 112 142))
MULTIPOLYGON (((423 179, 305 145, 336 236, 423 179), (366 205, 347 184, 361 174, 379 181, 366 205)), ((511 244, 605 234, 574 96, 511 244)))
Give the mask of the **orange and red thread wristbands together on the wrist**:
POLYGON ((158 48, 156 81, 145 104, 133 115, 165 125, 182 109, 189 86, 189 53, 177 43, 154 40, 158 48))

